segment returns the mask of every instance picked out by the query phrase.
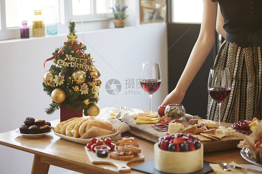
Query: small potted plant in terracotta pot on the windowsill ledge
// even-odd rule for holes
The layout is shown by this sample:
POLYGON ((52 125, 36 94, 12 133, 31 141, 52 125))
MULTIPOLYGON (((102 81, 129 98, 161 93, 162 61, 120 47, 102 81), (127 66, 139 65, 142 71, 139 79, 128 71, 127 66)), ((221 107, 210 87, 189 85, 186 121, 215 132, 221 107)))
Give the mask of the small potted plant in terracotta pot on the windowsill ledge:
POLYGON ((125 23, 126 23, 126 18, 128 15, 126 15, 126 8, 128 6, 123 5, 122 8, 120 9, 120 5, 115 5, 115 9, 114 7, 112 7, 111 9, 113 9, 113 13, 114 13, 114 19, 113 22, 115 24, 115 28, 123 28, 125 23))

